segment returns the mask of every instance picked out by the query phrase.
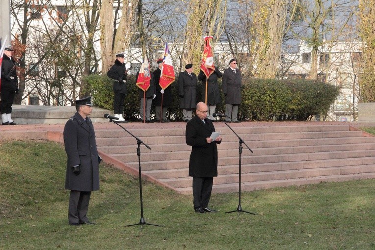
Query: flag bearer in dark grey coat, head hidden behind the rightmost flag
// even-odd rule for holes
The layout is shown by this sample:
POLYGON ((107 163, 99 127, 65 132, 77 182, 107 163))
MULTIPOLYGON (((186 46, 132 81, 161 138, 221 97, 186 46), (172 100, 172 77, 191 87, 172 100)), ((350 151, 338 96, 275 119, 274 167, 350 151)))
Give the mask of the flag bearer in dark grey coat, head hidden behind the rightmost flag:
POLYGON ((206 99, 206 82, 207 82, 207 106, 208 106, 208 119, 211 121, 216 121, 215 118, 212 116, 215 113, 216 105, 222 103, 222 99, 220 98, 220 91, 218 85, 218 78, 221 78, 223 73, 215 67, 215 71, 212 72, 210 77, 207 77, 202 70, 200 70, 198 74, 198 80, 202 81, 202 93, 203 93, 203 102, 206 99))

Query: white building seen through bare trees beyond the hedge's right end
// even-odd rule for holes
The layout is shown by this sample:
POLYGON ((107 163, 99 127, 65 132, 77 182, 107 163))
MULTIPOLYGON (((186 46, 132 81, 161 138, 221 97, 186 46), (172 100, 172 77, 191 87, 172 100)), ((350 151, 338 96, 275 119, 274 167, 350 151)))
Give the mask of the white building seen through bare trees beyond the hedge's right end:
MULTIPOLYGON (((340 95, 326 119, 354 121, 358 117, 359 75, 362 43, 327 42, 318 51, 318 79, 340 87, 340 95)), ((284 78, 306 78, 311 69, 311 47, 304 41, 296 54, 283 54, 284 78)))

